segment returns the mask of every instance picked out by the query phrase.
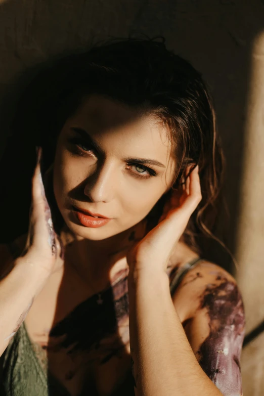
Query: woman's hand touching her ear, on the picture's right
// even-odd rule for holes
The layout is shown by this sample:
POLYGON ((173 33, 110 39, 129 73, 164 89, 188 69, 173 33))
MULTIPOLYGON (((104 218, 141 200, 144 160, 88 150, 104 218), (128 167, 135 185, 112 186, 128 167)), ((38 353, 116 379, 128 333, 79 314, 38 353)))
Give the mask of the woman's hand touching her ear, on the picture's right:
MULTIPOLYGON (((188 166, 186 174, 190 169, 191 166, 188 166)), ((197 165, 186 183, 172 192, 157 226, 129 249, 126 258, 130 273, 138 274, 142 270, 166 271, 173 248, 184 233, 191 214, 201 199, 197 165)))

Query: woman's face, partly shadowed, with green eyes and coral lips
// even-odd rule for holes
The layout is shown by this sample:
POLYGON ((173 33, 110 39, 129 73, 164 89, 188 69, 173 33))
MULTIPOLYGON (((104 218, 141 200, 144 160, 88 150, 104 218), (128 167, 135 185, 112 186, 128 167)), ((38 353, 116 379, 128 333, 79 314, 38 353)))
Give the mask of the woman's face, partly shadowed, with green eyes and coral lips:
POLYGON ((54 193, 66 225, 78 239, 103 240, 141 222, 171 186, 170 151, 157 117, 105 97, 85 99, 56 148, 54 193), (110 220, 87 226, 76 209, 110 220))

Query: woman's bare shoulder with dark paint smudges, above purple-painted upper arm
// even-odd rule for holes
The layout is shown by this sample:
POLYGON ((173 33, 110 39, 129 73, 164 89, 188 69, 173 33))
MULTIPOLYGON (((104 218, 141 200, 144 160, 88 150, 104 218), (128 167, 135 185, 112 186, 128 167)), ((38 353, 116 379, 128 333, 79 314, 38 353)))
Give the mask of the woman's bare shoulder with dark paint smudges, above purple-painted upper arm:
POLYGON ((233 302, 242 303, 236 280, 223 268, 206 260, 201 260, 184 276, 172 296, 182 321, 209 303, 217 304, 219 300, 224 303, 230 298, 233 302))

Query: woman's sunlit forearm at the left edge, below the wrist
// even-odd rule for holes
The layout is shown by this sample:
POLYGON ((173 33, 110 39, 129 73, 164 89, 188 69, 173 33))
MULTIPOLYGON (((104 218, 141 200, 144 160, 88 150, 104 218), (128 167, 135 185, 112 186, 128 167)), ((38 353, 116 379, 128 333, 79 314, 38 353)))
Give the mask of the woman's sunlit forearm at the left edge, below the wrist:
POLYGON ((0 281, 0 356, 47 278, 48 273, 38 269, 26 257, 21 257, 14 261, 12 271, 0 281))

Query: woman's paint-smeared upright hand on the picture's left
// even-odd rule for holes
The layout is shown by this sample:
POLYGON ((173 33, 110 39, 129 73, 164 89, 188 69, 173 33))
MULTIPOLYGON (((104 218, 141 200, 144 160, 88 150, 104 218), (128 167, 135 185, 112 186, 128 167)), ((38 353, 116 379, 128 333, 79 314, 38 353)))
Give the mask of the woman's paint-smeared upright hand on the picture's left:
POLYGON ((51 209, 45 195, 40 160, 41 147, 37 147, 37 163, 32 177, 32 200, 29 213, 29 230, 23 258, 52 274, 62 262, 62 245, 56 235, 51 209))

